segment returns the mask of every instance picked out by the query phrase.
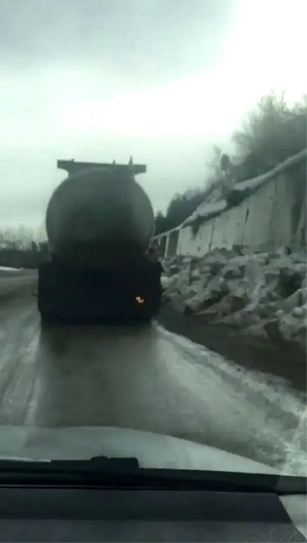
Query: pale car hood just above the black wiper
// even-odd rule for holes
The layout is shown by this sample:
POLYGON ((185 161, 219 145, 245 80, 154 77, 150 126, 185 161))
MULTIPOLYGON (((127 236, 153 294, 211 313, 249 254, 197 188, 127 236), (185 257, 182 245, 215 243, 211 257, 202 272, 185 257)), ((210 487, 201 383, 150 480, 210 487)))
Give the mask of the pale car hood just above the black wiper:
POLYGON ((136 457, 142 468, 280 473, 207 445, 140 430, 114 427, 0 427, 0 457, 36 460, 136 457))

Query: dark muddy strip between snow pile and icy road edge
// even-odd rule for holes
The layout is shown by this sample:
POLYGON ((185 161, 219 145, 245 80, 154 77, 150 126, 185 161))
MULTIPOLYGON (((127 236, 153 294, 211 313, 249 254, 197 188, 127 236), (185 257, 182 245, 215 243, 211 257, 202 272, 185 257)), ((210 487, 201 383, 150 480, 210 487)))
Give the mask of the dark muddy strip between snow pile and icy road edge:
POLYGON ((200 316, 184 315, 164 304, 159 324, 219 353, 243 368, 282 377, 289 385, 307 392, 307 354, 296 344, 272 344, 260 337, 247 336, 230 325, 208 325, 200 316))

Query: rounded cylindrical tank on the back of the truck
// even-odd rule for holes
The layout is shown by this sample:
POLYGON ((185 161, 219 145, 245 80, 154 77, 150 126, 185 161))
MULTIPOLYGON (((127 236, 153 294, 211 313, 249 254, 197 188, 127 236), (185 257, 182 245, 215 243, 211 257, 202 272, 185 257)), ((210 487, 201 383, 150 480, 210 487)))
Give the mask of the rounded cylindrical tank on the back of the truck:
POLYGON ((69 175, 46 211, 50 249, 73 267, 101 267, 144 254, 154 229, 148 195, 129 167, 95 167, 69 175))

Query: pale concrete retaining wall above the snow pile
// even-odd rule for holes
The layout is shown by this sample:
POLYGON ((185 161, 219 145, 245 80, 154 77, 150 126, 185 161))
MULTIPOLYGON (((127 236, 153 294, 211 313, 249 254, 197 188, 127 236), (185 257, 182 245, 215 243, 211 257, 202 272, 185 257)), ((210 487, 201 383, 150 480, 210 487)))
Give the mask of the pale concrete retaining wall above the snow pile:
POLYGON ((241 198, 238 205, 229 207, 225 201, 225 209, 212 218, 202 218, 196 210, 194 218, 157 236, 160 243, 163 241, 165 256, 201 256, 214 248, 231 249, 233 245, 240 245, 246 252, 273 251, 307 243, 307 151, 284 165, 261 176, 259 182, 237 185, 237 194, 245 190, 245 185, 252 187, 250 195, 241 198))

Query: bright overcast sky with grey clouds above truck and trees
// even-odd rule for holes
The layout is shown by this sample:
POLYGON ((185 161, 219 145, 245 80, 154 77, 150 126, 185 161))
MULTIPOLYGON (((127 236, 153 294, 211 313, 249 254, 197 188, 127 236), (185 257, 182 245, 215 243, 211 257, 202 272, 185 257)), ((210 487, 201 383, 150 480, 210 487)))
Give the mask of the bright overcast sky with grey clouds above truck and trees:
POLYGON ((306 0, 0 0, 0 228, 38 226, 57 159, 129 160, 155 209, 204 183, 261 94, 303 92, 306 0))

